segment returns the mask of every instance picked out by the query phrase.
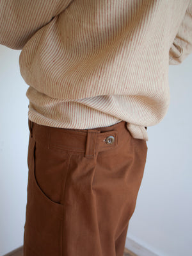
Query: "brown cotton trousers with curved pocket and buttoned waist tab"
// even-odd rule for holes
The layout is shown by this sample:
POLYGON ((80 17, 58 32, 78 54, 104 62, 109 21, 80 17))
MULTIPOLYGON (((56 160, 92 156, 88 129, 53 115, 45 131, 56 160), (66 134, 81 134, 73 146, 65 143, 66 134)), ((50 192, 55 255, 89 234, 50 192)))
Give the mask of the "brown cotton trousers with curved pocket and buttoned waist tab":
POLYGON ((123 256, 147 157, 125 124, 29 121, 24 256, 123 256))

